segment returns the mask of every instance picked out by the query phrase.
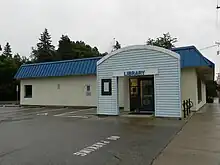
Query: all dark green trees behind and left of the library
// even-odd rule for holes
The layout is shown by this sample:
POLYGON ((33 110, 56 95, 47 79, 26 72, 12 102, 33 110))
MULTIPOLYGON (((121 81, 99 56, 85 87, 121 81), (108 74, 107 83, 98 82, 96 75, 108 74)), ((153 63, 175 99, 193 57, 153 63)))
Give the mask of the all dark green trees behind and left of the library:
MULTIPOLYGON (((166 33, 156 39, 149 38, 146 44, 170 49, 174 47, 175 42, 177 42, 177 39, 166 33)), ((115 41, 114 45, 112 45, 112 51, 120 48, 119 41, 115 41)), ((107 54, 107 52, 100 53, 97 47, 91 47, 83 41, 73 41, 67 35, 60 37, 58 48, 56 49, 52 44, 52 38, 47 29, 40 34, 39 41, 35 47, 31 48, 29 57, 13 53, 11 45, 7 42, 3 50, 0 46, 0 101, 17 99, 16 85, 19 82, 14 80, 14 75, 22 64, 89 58, 107 54)))

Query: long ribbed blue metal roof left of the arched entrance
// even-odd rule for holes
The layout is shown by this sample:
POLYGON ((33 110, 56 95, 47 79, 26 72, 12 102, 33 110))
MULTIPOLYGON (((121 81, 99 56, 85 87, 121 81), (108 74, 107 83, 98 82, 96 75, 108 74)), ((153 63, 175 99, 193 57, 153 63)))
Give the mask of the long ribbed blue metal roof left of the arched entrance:
POLYGON ((96 63, 101 57, 76 60, 24 64, 17 71, 16 79, 60 77, 96 74, 96 63))

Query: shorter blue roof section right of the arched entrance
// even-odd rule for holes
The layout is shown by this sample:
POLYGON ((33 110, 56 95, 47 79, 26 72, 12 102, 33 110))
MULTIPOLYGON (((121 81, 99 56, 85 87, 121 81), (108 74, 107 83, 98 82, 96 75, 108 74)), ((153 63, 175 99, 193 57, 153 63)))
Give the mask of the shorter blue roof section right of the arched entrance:
POLYGON ((181 58, 181 68, 207 66, 214 68, 215 64, 204 57, 195 46, 173 48, 181 58))

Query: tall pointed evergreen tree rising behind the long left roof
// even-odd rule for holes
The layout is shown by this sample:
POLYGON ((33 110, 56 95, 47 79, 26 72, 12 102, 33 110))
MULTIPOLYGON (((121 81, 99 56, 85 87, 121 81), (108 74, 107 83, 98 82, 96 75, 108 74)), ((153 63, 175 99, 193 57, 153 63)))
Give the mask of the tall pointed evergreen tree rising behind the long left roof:
POLYGON ((41 34, 37 43, 37 48, 32 48, 32 58, 36 62, 46 62, 54 60, 55 47, 52 45, 51 36, 47 29, 41 34))

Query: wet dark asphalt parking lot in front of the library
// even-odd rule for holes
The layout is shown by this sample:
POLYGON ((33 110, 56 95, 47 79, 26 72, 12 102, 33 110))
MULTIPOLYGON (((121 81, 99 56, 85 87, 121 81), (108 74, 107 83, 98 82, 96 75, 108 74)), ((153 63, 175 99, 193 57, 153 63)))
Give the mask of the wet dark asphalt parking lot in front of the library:
POLYGON ((148 165, 185 121, 0 107, 0 165, 148 165))

